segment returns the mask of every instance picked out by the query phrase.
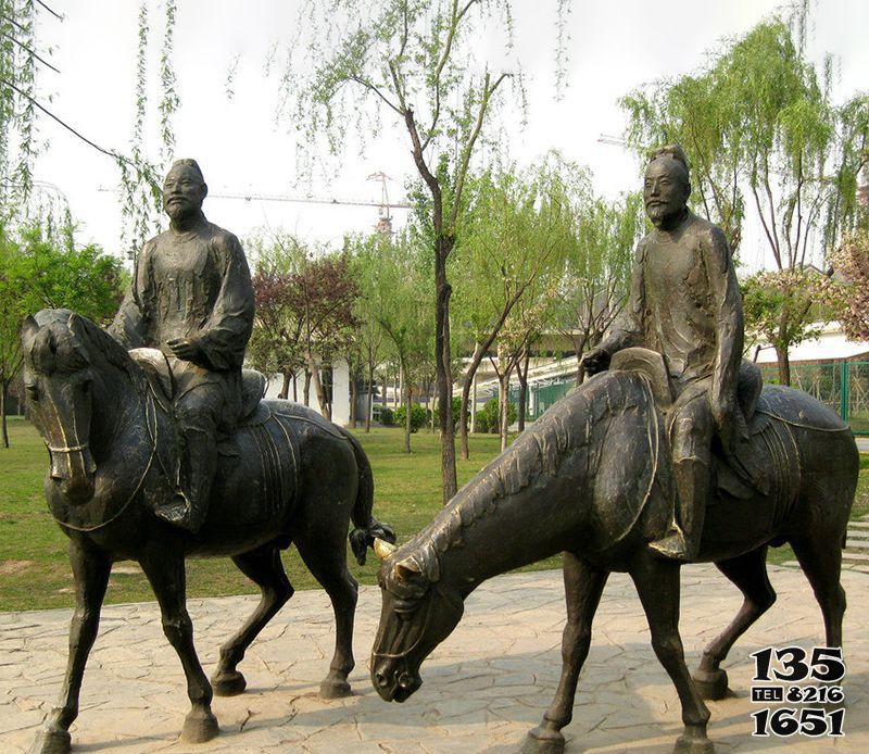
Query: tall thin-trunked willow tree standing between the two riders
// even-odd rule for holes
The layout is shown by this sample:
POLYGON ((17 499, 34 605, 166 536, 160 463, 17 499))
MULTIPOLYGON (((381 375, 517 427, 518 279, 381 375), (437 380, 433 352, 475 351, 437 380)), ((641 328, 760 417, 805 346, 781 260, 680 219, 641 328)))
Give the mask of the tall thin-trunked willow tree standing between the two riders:
MULTIPOLYGON (((555 5, 564 42, 568 2, 555 5)), ((349 128, 364 141, 386 124, 429 193, 444 501, 456 491, 448 262, 471 161, 484 144, 496 147, 494 113, 508 91, 525 101, 513 34, 508 0, 304 0, 280 79, 303 166, 313 167, 324 149, 338 155, 349 128), (480 39, 493 34, 503 39, 503 63, 479 59, 480 39)))

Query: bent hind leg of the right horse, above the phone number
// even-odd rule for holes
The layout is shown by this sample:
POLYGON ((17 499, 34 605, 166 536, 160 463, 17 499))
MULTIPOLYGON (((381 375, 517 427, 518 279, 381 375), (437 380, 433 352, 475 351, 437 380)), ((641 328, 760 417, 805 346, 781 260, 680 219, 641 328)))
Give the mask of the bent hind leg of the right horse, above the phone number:
POLYGON ((766 545, 715 565, 739 587, 744 600, 731 624, 703 650, 693 679, 704 699, 727 695, 727 671, 721 669, 721 663, 736 640, 776 602, 776 591, 767 577, 766 545))

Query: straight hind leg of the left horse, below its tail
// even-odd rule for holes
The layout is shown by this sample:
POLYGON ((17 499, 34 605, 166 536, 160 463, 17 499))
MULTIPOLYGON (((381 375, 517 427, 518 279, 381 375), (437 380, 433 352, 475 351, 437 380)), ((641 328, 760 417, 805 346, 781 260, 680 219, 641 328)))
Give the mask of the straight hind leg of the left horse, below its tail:
MULTIPOLYGON (((325 506, 319 508, 323 513, 325 506)), ((319 684, 323 699, 338 699, 350 694, 347 677, 355 666, 353 659, 353 619, 356 613, 358 585, 347 568, 347 524, 315 526, 304 537, 293 541, 308 570, 319 581, 335 611, 335 655, 329 674, 319 684), (330 529, 330 530, 329 530, 330 529)))

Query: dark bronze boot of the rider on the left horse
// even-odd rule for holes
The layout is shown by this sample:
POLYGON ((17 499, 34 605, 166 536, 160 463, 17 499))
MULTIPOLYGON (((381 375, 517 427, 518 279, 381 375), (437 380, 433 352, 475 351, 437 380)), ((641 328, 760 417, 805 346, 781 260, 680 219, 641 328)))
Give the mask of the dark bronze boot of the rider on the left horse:
POLYGON ((156 515, 174 526, 196 533, 205 521, 211 487, 214 481, 217 443, 214 433, 189 427, 181 452, 180 489, 156 515))

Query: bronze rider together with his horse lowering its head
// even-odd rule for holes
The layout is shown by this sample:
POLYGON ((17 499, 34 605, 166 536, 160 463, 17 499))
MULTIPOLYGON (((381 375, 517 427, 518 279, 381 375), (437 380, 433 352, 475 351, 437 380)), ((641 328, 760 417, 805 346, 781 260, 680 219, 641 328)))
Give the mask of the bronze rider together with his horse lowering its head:
POLYGON ((561 731, 614 570, 633 579, 655 654, 678 691, 678 751, 711 750, 703 698, 723 696, 720 663, 774 602, 769 545, 793 546, 827 643, 841 645, 841 550, 859 468, 854 437, 815 399, 777 386, 761 391, 759 370, 741 365, 730 252, 718 228, 688 211, 689 192, 681 149, 659 150, 644 186, 655 229, 638 247, 626 316, 585 357, 589 372, 601 374, 553 405, 386 557, 371 654, 371 680, 385 700, 416 691, 420 664, 479 583, 557 552, 567 596, 564 664, 528 752, 564 747, 561 731), (704 561, 739 587, 744 603, 692 680, 679 636, 679 569, 704 561))

